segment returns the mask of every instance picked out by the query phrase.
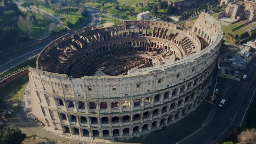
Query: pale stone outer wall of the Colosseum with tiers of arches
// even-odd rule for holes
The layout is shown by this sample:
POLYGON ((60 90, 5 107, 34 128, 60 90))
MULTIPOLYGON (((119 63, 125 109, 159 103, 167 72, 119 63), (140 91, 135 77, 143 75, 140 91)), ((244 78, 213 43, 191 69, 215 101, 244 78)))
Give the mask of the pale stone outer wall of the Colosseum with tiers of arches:
MULTIPOLYGON (((133 23, 142 26, 144 21, 133 23)), ((159 27, 162 24, 167 23, 158 22, 159 27)), ((207 96, 222 43, 220 23, 205 13, 185 33, 210 45, 174 63, 133 70, 130 75, 82 78, 40 69, 43 55, 70 37, 57 39, 41 52, 38 68, 30 69, 33 116, 56 133, 80 138, 130 139, 174 124, 207 96)), ((178 42, 174 45, 180 48, 178 42)))

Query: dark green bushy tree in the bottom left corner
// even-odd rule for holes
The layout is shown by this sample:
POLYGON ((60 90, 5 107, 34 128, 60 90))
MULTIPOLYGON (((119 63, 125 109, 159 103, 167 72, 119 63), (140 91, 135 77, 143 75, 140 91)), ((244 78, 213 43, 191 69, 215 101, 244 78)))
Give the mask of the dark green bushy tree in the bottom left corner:
POLYGON ((25 138, 26 134, 19 128, 11 128, 7 126, 3 128, 3 131, 0 131, 1 144, 21 144, 25 138))

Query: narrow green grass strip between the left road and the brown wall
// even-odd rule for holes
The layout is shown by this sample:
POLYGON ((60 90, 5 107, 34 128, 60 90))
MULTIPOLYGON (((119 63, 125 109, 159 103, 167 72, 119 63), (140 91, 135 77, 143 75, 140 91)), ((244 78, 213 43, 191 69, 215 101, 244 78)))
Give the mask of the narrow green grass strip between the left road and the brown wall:
POLYGON ((25 68, 26 66, 36 67, 36 58, 37 58, 37 56, 33 57, 30 60, 27 60, 26 62, 21 63, 20 65, 17 65, 15 67, 13 67, 12 69, 9 69, 8 71, 6 71, 4 73, 2 73, 0 75, 0 79, 3 78, 6 75, 9 75, 10 73, 18 71, 19 69, 25 68))

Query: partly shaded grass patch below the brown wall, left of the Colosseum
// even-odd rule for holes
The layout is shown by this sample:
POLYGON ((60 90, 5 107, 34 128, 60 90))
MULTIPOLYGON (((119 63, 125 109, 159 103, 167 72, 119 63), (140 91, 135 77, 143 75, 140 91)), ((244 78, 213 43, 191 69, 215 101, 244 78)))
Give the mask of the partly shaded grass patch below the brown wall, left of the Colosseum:
POLYGON ((0 89, 0 97, 10 100, 23 99, 28 82, 29 79, 27 75, 13 80, 13 82, 10 82, 0 89))

